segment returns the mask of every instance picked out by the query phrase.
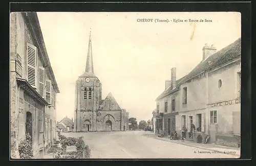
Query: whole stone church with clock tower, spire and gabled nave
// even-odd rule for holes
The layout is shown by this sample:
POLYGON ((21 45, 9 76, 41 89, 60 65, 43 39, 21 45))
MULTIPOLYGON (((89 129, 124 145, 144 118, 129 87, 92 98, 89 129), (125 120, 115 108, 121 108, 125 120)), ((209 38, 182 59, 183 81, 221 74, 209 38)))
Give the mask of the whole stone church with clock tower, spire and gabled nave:
POLYGON ((121 109, 111 93, 102 100, 102 84, 93 70, 92 41, 85 72, 75 87, 74 132, 125 131, 129 128, 129 112, 121 109))

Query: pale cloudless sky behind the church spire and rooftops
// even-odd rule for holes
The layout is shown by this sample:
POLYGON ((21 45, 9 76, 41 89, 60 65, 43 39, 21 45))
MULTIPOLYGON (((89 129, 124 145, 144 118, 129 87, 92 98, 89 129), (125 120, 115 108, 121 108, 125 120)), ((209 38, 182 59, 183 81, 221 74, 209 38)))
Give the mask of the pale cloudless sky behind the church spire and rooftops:
POLYGON ((239 12, 37 12, 37 16, 60 90, 57 121, 74 117, 75 82, 86 69, 90 29, 102 99, 111 92, 138 123, 152 118, 172 67, 178 80, 202 61, 205 43, 219 51, 241 37, 239 12), (143 18, 153 22, 137 21, 143 18))

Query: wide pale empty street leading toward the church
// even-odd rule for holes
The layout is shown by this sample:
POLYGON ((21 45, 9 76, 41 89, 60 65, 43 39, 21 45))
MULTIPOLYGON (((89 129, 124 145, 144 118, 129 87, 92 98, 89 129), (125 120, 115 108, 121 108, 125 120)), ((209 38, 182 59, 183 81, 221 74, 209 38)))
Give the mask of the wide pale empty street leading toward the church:
POLYGON ((91 149, 91 158, 237 158, 155 138, 145 131, 62 133, 67 137, 83 136, 91 149))

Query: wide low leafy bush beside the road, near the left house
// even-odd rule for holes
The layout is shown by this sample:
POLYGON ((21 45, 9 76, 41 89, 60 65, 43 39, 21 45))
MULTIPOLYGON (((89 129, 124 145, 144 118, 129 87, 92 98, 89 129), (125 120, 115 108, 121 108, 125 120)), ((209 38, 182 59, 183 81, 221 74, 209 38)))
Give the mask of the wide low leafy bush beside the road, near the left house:
POLYGON ((58 137, 61 144, 61 151, 57 152, 56 159, 60 158, 90 158, 91 151, 86 145, 82 137, 66 137, 58 132, 58 137), (76 146, 76 152, 65 153, 67 146, 76 146), (83 157, 84 153, 84 157, 83 157))

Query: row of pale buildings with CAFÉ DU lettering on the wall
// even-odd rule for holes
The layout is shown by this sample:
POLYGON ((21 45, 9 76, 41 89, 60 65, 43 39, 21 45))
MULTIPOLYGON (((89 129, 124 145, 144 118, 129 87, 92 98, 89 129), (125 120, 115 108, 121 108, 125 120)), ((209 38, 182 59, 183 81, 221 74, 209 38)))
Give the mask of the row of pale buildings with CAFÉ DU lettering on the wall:
MULTIPOLYGON (((189 74, 176 81, 176 131, 180 136, 185 126, 186 139, 197 141, 201 135, 204 140, 208 135, 212 143, 240 147, 241 38, 218 52, 213 45, 206 44, 202 57, 189 74), (191 124, 196 128, 193 137, 188 136, 191 124)), ((162 124, 166 122, 165 103, 175 95, 174 90, 166 93, 170 93, 169 99, 162 98, 164 92, 157 99, 162 117, 159 114, 156 118, 162 118, 162 124)), ((160 130, 166 130, 164 126, 160 125, 160 130)))

